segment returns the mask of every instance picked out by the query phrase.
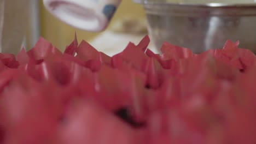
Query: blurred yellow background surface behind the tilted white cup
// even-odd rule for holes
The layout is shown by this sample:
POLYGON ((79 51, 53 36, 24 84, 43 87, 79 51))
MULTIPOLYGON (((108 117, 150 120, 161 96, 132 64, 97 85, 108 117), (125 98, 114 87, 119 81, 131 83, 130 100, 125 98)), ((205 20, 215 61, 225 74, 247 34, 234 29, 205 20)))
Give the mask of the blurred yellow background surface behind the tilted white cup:
MULTIPOLYGON (((70 44, 71 41, 74 39, 74 32, 77 32, 79 41, 82 39, 90 41, 94 39, 98 34, 100 34, 85 32, 80 29, 73 28, 51 15, 44 8, 43 3, 41 3, 40 5, 42 36, 61 50, 65 49, 65 47, 70 44)), ((123 0, 107 29, 112 27, 113 23, 123 18, 124 16, 134 16, 137 18, 146 17, 141 5, 133 3, 132 0, 123 0)))

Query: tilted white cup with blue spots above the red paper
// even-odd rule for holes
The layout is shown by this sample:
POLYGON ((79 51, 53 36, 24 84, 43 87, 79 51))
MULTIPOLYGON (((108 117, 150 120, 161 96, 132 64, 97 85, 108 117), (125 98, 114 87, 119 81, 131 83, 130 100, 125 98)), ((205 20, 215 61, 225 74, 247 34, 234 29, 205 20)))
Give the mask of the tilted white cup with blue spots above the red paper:
POLYGON ((43 0, 51 14, 85 31, 103 31, 121 0, 43 0))

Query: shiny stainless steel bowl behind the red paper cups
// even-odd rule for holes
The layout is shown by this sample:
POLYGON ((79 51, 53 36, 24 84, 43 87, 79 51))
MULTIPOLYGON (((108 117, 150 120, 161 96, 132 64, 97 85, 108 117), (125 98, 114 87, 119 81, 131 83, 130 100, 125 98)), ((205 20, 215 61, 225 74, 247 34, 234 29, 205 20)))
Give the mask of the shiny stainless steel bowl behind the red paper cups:
POLYGON ((149 35, 159 48, 167 41, 201 53, 230 39, 256 52, 254 1, 133 1, 146 10, 149 35))

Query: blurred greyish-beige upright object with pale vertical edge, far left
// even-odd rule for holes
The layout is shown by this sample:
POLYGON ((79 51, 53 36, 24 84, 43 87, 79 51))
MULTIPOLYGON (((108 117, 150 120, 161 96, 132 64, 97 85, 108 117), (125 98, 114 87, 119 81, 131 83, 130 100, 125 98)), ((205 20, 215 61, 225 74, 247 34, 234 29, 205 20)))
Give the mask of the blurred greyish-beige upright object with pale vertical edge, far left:
POLYGON ((0 50, 17 54, 40 37, 39 1, 0 0, 0 50))

